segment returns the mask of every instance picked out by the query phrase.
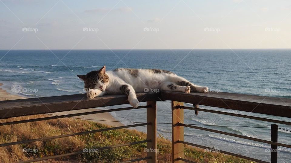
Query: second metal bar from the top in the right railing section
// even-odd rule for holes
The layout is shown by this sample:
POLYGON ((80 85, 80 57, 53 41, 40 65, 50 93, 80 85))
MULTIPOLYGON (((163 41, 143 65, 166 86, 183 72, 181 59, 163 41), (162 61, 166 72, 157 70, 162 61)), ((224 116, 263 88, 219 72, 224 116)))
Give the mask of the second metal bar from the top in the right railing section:
POLYGON ((238 138, 243 138, 243 139, 253 140, 253 141, 257 141, 257 142, 263 142, 263 143, 267 143, 267 144, 272 144, 272 145, 278 145, 278 146, 281 146, 281 147, 291 148, 291 145, 288 145, 288 144, 283 144, 283 143, 272 142, 272 141, 263 140, 263 139, 252 138, 252 137, 249 137, 249 136, 243 136, 243 135, 228 133, 228 132, 219 131, 219 130, 215 130, 215 129, 207 129, 207 128, 203 128, 203 127, 187 125, 187 124, 184 124, 184 123, 177 123, 176 126, 184 126, 184 127, 190 127, 190 128, 193 128, 193 129, 201 129, 201 130, 210 131, 210 132, 213 132, 213 133, 220 133, 220 134, 234 136, 234 137, 238 137, 238 138))

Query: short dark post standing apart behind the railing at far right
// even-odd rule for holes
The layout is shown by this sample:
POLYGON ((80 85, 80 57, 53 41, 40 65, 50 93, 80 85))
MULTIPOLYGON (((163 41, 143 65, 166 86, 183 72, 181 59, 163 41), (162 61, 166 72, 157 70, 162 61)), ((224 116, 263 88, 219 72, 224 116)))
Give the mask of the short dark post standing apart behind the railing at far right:
MULTIPOLYGON (((271 141, 278 142, 278 125, 271 124, 271 141)), ((278 161, 278 146, 271 144, 271 162, 277 163, 278 161)))

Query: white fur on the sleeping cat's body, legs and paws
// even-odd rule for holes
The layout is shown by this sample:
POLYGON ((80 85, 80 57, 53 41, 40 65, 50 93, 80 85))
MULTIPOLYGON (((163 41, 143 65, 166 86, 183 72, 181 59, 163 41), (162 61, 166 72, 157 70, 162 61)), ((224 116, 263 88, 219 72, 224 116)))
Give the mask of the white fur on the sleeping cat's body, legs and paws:
MULTIPOLYGON (((143 92, 145 88, 159 89, 165 91, 181 91, 185 93, 190 93, 190 86, 180 86, 176 85, 175 89, 170 89, 169 85, 172 83, 177 83, 180 81, 189 82, 185 78, 182 78, 176 74, 172 73, 154 73, 149 69, 138 69, 137 77, 132 76, 128 69, 119 69, 118 71, 106 71, 109 76, 109 82, 101 83, 98 82, 95 88, 103 87, 100 89, 89 89, 87 92, 88 98, 94 98, 96 96, 102 96, 103 94, 121 94, 120 90, 122 85, 129 86, 128 101, 132 107, 138 107, 139 101, 136 98, 136 92, 143 92)), ((192 83, 191 83, 192 84, 192 83)), ((200 87, 193 85, 198 92, 206 93, 208 87, 200 87)))

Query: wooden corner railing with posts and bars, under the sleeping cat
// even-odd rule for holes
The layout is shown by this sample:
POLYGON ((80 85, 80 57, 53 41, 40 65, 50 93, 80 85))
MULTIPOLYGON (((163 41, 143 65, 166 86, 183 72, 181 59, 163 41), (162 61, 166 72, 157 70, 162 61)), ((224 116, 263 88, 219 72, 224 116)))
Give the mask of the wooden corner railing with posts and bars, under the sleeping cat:
MULTIPOLYGON (((72 134, 44 137, 44 138, 38 138, 38 139, 23 140, 23 141, 18 141, 18 142, 3 143, 3 144, 0 144, 0 148, 3 146, 8 146, 8 145, 30 143, 30 142, 44 141, 44 140, 50 140, 50 139, 58 139, 58 138, 63 138, 63 137, 68 137, 68 136, 84 135, 88 133, 97 133, 97 132, 130 128, 130 127, 136 127, 136 126, 147 126, 146 140, 138 141, 138 142, 129 142, 126 144, 113 145, 113 146, 108 146, 108 147, 102 147, 102 148, 99 148, 98 150, 118 148, 121 146, 127 146, 127 145, 133 145, 133 144, 146 142, 147 148, 152 149, 151 151, 147 152, 147 157, 137 158, 134 160, 129 160, 127 162, 140 161, 140 160, 147 160, 148 162, 157 162, 156 101, 165 101, 165 100, 172 101, 172 160, 173 162, 193 162, 193 161, 185 159, 184 157, 185 144, 196 146, 203 149, 216 150, 218 152, 221 152, 227 155, 233 155, 236 157, 245 158, 245 159, 256 161, 256 162, 266 162, 266 161, 258 160, 255 158, 250 158, 247 156, 227 152, 227 151, 209 148, 209 147, 194 144, 191 142, 185 142, 184 141, 184 127, 200 129, 200 130, 204 130, 208 132, 234 136, 234 137, 253 140, 257 142, 263 142, 266 144, 270 144, 272 149, 277 148, 277 146, 291 148, 291 145, 276 142, 275 135, 273 135, 273 138, 271 139, 273 141, 269 141, 269 140, 262 140, 262 139, 253 138, 249 136, 242 136, 238 134, 227 133, 227 132, 214 130, 214 129, 203 128, 199 126, 193 126, 193 125, 184 123, 184 109, 188 109, 188 110, 198 110, 202 112, 224 114, 228 116, 236 116, 236 117, 243 117, 243 118, 249 118, 249 119, 254 119, 254 120, 261 120, 261 121, 291 125, 290 122, 276 120, 276 119, 267 119, 267 118, 262 118, 262 117, 254 117, 254 116, 247 116, 247 115, 236 114, 236 113, 229 113, 227 111, 222 112, 222 111, 217 111, 217 110, 198 108, 198 104, 199 104, 199 105, 205 105, 205 106, 220 107, 220 108, 226 108, 226 109, 232 109, 232 110, 240 110, 240 111, 245 111, 245 112, 253 112, 253 113, 291 118, 291 108, 290 108, 291 99, 289 98, 234 94, 234 93, 226 93, 226 92, 186 94, 186 93, 180 93, 180 92, 161 91, 160 93, 156 93, 156 92, 137 93, 136 95, 140 102, 147 102, 146 106, 140 106, 137 108, 126 107, 126 108, 118 108, 118 109, 110 109, 110 110, 82 112, 82 113, 43 117, 43 118, 36 118, 36 119, 29 119, 29 120, 19 120, 19 121, 4 122, 4 123, 0 122, 0 126, 12 125, 12 124, 18 124, 18 123, 29 123, 29 122, 35 122, 35 121, 41 121, 41 120, 51 120, 51 119, 65 118, 65 117, 74 117, 74 116, 88 115, 88 114, 95 114, 95 113, 141 109, 141 108, 147 108, 146 110, 147 122, 146 123, 112 127, 112 128, 107 128, 107 129, 90 130, 90 131, 85 131, 85 132, 80 132, 80 133, 72 133, 72 134), (196 107, 183 106, 184 102, 195 104, 194 106, 196 107)), ((85 97, 85 94, 0 101, 0 118, 4 119, 4 118, 11 118, 11 117, 20 117, 20 116, 27 116, 27 115, 43 114, 43 113, 54 113, 54 112, 69 111, 69 110, 80 110, 80 109, 105 107, 105 106, 128 104, 128 103, 129 102, 127 101, 126 95, 106 95, 102 97, 95 97, 93 99, 87 99, 85 97)), ((273 130, 273 133, 276 133, 276 127, 273 129, 275 129, 273 130)), ((1 129, 0 129, 0 132, 1 132, 1 129)), ((70 155, 78 155, 82 153, 84 152, 83 151, 72 152, 72 153, 37 158, 37 159, 32 159, 32 160, 27 160, 27 161, 22 161, 22 162, 35 162, 35 161, 60 158, 60 157, 70 156, 70 155)), ((271 162, 272 163, 277 162, 276 152, 273 152, 273 153, 271 152, 271 162)))

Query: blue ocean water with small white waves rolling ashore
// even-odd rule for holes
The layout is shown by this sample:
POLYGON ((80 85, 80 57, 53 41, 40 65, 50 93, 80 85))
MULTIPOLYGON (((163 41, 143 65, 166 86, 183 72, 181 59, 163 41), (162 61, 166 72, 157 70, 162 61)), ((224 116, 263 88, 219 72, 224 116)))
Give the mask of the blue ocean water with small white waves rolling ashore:
MULTIPOLYGON (((187 78, 210 91, 224 91, 291 98, 291 50, 0 50, 0 82, 14 94, 46 97, 83 92, 83 82, 76 75, 118 67, 166 69, 187 78)), ((143 105, 143 104, 141 104, 143 105)), ((191 104, 185 104, 192 106, 191 104)), ((122 107, 128 105, 122 105, 122 107)), ((104 107, 118 108, 121 106, 104 107)), ((171 102, 157 104, 157 121, 171 123, 171 102)), ((201 108, 253 115, 291 122, 290 118, 246 113, 215 107, 201 108)), ((119 111, 112 115, 121 121, 146 122, 145 109, 119 111)), ((271 123, 230 117, 214 113, 185 110, 185 123, 220 126, 268 127, 271 123)), ((270 128, 215 127, 206 128, 270 140, 270 128)), ((290 126, 279 124, 291 130, 290 126)), ((145 127, 137 127, 146 131, 145 127)), ((158 124, 158 133, 171 140, 171 126, 158 124)), ((290 144, 291 133, 279 129, 278 141, 290 144)), ((239 153, 264 161, 268 144, 216 133, 185 128, 185 140, 200 145, 239 153)), ((291 162, 291 149, 279 147, 279 162, 291 162)))

